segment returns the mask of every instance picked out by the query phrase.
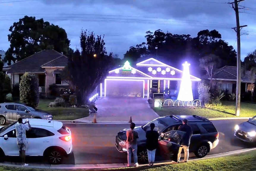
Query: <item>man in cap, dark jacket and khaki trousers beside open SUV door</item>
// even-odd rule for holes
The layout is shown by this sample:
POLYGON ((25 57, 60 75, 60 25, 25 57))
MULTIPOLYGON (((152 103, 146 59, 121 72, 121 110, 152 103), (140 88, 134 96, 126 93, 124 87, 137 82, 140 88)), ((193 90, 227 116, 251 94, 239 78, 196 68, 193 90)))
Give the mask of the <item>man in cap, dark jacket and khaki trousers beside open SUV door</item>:
POLYGON ((184 149, 184 161, 187 162, 189 159, 189 145, 190 145, 190 139, 192 137, 192 128, 187 124, 188 120, 184 119, 182 121, 182 126, 179 128, 179 131, 184 131, 186 132, 184 136, 181 139, 180 145, 181 147, 179 148, 178 152, 178 159, 177 162, 180 162, 181 159, 181 151, 184 149))

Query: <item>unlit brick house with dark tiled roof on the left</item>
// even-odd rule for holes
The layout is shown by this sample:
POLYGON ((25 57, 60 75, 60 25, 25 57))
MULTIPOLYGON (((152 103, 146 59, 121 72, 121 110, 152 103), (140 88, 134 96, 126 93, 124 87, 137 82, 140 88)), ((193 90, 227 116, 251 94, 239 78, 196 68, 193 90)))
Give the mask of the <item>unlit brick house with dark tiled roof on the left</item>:
POLYGON ((61 79, 61 72, 67 63, 68 59, 63 53, 43 50, 4 67, 4 70, 10 75, 12 85, 20 83, 20 77, 24 73, 34 73, 38 77, 39 92, 47 97, 50 95, 48 88, 51 84, 56 84, 58 88, 69 87, 69 81, 61 79))

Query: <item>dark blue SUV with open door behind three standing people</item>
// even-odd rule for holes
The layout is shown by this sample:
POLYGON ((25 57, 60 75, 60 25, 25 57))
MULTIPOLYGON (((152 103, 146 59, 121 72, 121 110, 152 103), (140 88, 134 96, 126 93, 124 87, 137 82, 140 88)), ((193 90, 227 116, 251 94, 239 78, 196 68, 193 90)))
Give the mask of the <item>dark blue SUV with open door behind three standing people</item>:
MULTIPOLYGON (((139 133, 139 138, 137 139, 139 162, 146 163, 148 161, 146 131, 150 130, 151 123, 156 125, 155 130, 159 133, 159 149, 157 149, 156 154, 163 154, 163 151, 167 151, 168 156, 176 156, 180 147, 180 140, 184 134, 184 132, 178 131, 178 127, 182 125, 182 120, 185 118, 188 120, 188 125, 191 126, 193 132, 189 146, 190 152, 202 158, 218 145, 219 133, 211 121, 204 117, 197 115, 170 115, 159 117, 146 125, 138 126, 134 129, 139 133)), ((129 128, 121 130, 116 136, 116 149, 119 152, 127 153, 125 144, 127 130, 129 130, 129 128)))

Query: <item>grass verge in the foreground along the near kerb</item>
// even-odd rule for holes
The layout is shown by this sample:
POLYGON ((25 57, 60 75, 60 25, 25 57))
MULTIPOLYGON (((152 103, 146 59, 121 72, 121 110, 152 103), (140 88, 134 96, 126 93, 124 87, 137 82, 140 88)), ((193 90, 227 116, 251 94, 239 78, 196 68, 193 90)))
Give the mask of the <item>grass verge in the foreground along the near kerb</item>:
MULTIPOLYGON (((172 164, 156 167, 140 167, 140 168, 118 168, 118 169, 89 169, 80 171, 254 171, 256 170, 256 151, 242 153, 234 156, 219 157, 214 159, 205 159, 191 161, 188 163, 172 164)), ((43 169, 26 169, 26 168, 11 168, 0 167, 1 171, 48 171, 43 169)), ((60 171, 60 170, 55 170, 60 171)), ((71 171, 71 170, 70 170, 71 171)))

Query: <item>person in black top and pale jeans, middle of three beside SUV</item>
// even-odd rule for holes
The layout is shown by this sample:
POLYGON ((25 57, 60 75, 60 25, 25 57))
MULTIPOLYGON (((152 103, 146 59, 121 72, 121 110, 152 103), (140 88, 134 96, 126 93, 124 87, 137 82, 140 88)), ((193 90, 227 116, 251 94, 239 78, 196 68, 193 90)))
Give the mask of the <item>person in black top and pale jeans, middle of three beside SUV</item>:
POLYGON ((146 138, 147 138, 146 147, 148 151, 148 162, 149 162, 148 166, 153 166, 155 161, 156 149, 158 146, 159 134, 157 131, 154 131, 154 128, 155 128, 154 123, 150 124, 150 128, 151 130, 146 132, 146 138))

